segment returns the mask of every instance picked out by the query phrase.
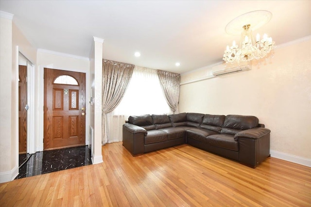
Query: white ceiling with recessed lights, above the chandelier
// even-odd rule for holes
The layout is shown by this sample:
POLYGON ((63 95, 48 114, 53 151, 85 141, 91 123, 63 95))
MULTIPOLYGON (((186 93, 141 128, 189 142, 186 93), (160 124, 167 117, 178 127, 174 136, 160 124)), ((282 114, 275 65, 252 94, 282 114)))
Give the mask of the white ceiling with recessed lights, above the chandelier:
POLYGON ((311 35, 309 0, 0 0, 0 10, 36 48, 88 58, 96 36, 105 59, 177 73, 221 62, 226 45, 240 39, 226 24, 247 12, 272 13, 255 32, 276 45, 311 35))

